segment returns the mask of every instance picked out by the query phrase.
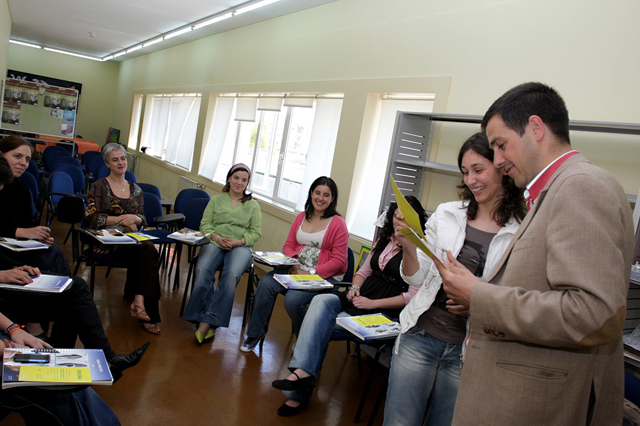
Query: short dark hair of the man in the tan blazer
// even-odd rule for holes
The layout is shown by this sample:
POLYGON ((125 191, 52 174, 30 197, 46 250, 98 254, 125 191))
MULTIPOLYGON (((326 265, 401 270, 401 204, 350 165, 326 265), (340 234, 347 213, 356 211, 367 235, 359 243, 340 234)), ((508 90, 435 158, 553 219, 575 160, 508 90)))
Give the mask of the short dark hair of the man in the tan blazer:
POLYGON ((552 87, 542 83, 523 83, 500 96, 482 119, 482 131, 494 116, 500 116, 504 124, 524 134, 529 117, 537 115, 562 142, 570 144, 569 112, 564 100, 552 87))

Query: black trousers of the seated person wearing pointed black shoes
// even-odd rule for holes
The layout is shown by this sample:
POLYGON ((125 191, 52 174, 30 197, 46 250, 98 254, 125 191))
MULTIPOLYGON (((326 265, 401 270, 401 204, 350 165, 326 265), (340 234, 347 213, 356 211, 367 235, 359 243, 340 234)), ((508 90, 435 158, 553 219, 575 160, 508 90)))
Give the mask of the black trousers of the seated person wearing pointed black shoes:
POLYGON ((0 312, 18 324, 53 321, 51 344, 73 348, 79 336, 89 349, 102 349, 109 360, 115 355, 87 283, 74 277, 62 293, 36 293, 0 289, 0 312))

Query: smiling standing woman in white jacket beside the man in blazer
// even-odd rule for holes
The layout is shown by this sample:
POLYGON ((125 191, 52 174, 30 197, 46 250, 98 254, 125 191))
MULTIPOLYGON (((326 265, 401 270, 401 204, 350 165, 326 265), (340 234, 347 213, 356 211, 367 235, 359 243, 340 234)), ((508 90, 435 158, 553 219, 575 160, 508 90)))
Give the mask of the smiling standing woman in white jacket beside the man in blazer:
MULTIPOLYGON (((427 221, 426 240, 436 256, 444 258, 450 250, 471 272, 486 277, 526 214, 522 190, 493 166, 493 151, 483 133, 462 145, 458 167, 462 201, 438 206, 427 221)), ((449 425, 467 313, 447 304, 433 261, 399 232, 396 238, 404 250, 402 278, 420 289, 400 314, 402 330, 391 361, 384 424, 422 425, 428 408, 425 424, 449 425)))

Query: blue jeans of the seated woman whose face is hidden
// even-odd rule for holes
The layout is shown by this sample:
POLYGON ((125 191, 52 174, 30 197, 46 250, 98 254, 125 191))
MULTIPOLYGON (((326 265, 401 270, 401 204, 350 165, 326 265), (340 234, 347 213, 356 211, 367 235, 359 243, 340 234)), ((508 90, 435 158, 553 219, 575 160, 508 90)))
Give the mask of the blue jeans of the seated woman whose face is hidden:
MULTIPOLYGON (((289 370, 295 371, 299 368, 318 377, 327 354, 329 341, 345 340, 353 336, 336 324, 336 318, 341 313, 342 302, 337 295, 319 294, 313 298, 302 322, 289 370)), ((284 391, 283 393, 287 398, 299 402, 304 402, 311 397, 311 392, 284 391)))

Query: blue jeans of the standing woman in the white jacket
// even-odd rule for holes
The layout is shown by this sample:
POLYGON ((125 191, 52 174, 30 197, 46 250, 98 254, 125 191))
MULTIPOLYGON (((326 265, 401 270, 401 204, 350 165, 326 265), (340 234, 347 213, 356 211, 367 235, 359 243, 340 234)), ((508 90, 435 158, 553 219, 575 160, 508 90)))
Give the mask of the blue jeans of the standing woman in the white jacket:
POLYGON ((436 339, 415 326, 400 334, 391 358, 385 426, 450 425, 460 385, 462 345, 436 339))

